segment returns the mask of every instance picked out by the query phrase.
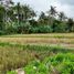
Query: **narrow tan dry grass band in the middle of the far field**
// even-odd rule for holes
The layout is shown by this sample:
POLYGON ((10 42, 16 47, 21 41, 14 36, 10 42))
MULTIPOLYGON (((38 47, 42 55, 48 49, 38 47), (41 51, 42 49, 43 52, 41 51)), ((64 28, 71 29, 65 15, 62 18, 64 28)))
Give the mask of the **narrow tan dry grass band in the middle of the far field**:
POLYGON ((57 38, 0 38, 0 42, 14 42, 14 43, 66 43, 66 44, 74 44, 74 39, 57 39, 57 38))

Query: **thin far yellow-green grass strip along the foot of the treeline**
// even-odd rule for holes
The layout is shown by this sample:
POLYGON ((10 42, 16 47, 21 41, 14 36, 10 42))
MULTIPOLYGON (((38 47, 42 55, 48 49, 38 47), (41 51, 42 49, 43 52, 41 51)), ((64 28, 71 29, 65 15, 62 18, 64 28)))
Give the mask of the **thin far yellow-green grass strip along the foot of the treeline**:
POLYGON ((47 34, 12 34, 1 35, 2 38, 66 38, 74 39, 74 33, 47 33, 47 34))

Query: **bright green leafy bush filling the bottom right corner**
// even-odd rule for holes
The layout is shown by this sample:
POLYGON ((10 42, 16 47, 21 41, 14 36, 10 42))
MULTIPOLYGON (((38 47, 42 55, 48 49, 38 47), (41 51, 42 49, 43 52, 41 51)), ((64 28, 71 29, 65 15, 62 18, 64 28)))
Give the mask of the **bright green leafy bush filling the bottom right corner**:
POLYGON ((49 61, 60 74, 74 73, 74 54, 72 53, 59 53, 49 61))

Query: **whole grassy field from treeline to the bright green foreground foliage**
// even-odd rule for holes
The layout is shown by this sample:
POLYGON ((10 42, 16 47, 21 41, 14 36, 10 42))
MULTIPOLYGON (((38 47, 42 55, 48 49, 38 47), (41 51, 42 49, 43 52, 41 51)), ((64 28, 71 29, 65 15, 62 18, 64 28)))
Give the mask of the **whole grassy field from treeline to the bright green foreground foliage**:
POLYGON ((40 61, 42 67, 42 62, 46 57, 60 53, 74 53, 73 33, 2 35, 0 36, 0 74, 7 72, 15 74, 13 70, 29 68, 27 65, 35 60, 40 61))

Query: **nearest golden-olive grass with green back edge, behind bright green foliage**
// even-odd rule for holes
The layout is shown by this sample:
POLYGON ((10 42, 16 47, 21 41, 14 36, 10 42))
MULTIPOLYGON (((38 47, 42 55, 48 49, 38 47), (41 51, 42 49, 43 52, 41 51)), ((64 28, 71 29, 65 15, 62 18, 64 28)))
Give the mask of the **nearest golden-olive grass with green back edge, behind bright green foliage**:
POLYGON ((42 61, 46 56, 56 53, 74 52, 71 49, 50 45, 20 45, 10 43, 0 43, 0 71, 7 72, 10 70, 25 66, 33 60, 42 61))

